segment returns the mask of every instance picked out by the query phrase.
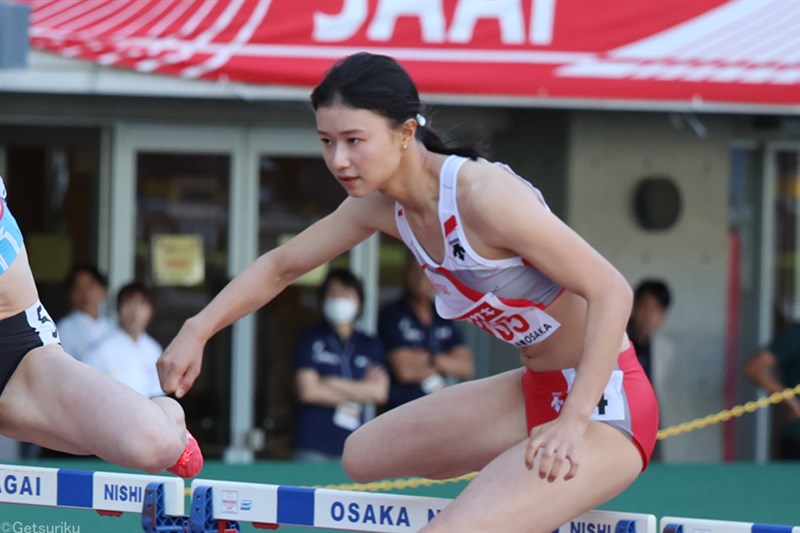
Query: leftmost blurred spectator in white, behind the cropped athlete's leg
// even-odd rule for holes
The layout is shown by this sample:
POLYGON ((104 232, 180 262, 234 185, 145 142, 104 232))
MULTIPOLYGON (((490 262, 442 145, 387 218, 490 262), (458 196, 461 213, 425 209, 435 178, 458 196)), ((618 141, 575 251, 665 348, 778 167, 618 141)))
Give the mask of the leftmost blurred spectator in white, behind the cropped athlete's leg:
POLYGON ((113 329, 114 323, 102 314, 108 283, 97 267, 75 266, 67 276, 67 293, 72 311, 58 321, 61 346, 78 361, 113 329))

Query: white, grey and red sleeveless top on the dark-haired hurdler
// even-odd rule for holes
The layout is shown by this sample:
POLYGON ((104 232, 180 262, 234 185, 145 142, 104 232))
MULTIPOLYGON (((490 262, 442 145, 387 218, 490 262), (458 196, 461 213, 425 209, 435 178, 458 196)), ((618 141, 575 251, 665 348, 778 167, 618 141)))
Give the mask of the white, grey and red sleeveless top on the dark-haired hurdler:
MULTIPOLYGON (((472 322, 520 348, 541 342, 560 326, 545 309, 562 288, 522 257, 486 259, 472 249, 456 205, 458 170, 466 161, 450 156, 439 174, 439 222, 445 240, 441 265, 419 244, 399 203, 395 204, 397 229, 436 288, 436 311, 442 318, 472 322)), ((495 164, 531 187, 547 205, 533 185, 507 165, 495 164)))

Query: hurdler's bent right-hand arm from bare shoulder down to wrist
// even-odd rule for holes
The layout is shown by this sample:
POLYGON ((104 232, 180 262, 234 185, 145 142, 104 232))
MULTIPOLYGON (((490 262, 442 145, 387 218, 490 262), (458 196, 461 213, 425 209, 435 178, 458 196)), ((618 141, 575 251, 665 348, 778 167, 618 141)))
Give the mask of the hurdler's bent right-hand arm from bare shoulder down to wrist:
POLYGON ((473 165, 464 177, 463 181, 459 177, 459 208, 480 244, 498 254, 508 251, 525 258, 586 300, 583 353, 559 418, 574 417, 588 424, 619 354, 633 300, 630 285, 609 261, 550 213, 530 187, 506 170, 473 165))

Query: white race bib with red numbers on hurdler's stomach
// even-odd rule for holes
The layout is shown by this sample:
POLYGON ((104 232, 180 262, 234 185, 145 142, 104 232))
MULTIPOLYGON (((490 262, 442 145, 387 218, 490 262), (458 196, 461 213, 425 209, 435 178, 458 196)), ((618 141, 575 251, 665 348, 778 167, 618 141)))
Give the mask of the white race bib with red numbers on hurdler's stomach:
POLYGON ((561 325, 538 307, 514 307, 487 293, 457 320, 472 322, 518 348, 542 342, 561 325))

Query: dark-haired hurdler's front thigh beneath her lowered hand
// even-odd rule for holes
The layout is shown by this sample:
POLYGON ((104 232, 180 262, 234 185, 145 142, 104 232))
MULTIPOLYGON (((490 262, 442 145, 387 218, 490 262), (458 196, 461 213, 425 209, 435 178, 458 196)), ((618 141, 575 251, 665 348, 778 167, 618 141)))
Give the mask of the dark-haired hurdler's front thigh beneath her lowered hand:
POLYGON ((526 445, 522 440, 487 465, 424 531, 549 533, 622 492, 642 468, 631 440, 600 422, 589 423, 581 466, 569 481, 561 475, 551 483, 536 466, 528 470, 526 445))

